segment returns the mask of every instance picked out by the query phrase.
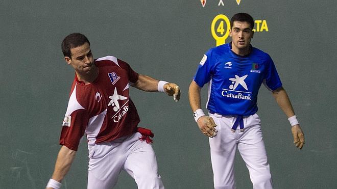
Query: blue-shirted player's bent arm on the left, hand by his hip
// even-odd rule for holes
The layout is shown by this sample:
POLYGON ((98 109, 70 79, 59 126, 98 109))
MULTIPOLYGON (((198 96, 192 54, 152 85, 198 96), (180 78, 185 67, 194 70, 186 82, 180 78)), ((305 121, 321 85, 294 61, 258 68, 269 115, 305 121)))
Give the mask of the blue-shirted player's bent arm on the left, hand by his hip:
POLYGON ((216 136, 216 132, 218 131, 214 128, 216 127, 214 120, 211 117, 206 116, 201 110, 200 91, 201 87, 199 87, 199 85, 193 80, 189 85, 188 90, 189 104, 194 112, 196 122, 201 132, 207 137, 213 138, 216 136))

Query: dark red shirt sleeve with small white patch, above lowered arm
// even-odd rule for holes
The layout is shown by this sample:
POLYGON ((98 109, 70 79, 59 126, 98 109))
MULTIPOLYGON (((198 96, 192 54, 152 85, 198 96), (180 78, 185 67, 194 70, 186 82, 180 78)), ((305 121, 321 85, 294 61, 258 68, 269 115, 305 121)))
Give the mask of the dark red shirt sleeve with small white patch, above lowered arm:
POLYGON ((67 119, 69 123, 65 124, 65 121, 63 121, 60 145, 77 151, 80 140, 88 125, 89 114, 86 110, 80 109, 71 113, 70 116, 66 116, 65 119, 67 119))

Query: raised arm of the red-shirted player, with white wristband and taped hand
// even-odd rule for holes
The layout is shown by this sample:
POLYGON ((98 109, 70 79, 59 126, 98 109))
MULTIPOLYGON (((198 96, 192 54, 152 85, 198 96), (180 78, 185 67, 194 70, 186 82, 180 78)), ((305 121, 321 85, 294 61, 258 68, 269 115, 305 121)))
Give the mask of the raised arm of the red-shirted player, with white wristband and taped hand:
POLYGON ((155 78, 152 78, 148 75, 139 74, 137 82, 134 83, 131 86, 135 87, 139 90, 147 91, 147 92, 156 92, 156 91, 165 92, 169 96, 173 96, 173 98, 176 102, 179 101, 179 99, 180 99, 180 88, 177 84, 166 83, 163 86, 160 85, 160 84, 163 84, 163 83, 162 82, 159 83, 159 80, 157 80, 155 78))

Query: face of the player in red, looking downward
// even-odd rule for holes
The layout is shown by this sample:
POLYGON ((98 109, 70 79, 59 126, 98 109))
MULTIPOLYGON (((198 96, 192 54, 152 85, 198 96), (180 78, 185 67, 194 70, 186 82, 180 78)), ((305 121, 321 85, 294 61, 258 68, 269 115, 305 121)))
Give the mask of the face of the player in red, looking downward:
POLYGON ((71 58, 65 57, 65 61, 74 67, 78 73, 89 73, 94 66, 93 57, 88 43, 82 46, 71 48, 71 58))

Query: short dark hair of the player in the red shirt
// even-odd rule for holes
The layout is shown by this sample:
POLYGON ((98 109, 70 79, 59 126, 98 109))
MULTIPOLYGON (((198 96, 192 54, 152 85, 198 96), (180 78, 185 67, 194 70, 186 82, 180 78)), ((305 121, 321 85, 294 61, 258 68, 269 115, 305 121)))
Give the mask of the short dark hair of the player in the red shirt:
POLYGON ((69 34, 67 37, 63 39, 62 44, 61 44, 64 57, 71 58, 70 49, 81 46, 84 43, 89 43, 90 45, 88 38, 85 37, 83 34, 80 34, 80 33, 69 34))

